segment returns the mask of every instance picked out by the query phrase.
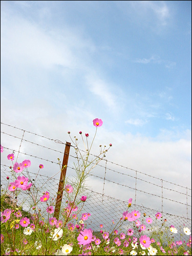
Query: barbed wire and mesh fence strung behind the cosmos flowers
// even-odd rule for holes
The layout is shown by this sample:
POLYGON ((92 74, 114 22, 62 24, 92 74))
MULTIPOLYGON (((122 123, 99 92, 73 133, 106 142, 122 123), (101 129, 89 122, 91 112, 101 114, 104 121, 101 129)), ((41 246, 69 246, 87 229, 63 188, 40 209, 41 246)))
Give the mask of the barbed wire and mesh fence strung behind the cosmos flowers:
MULTIPOLYGON (((7 132, 1 131, 2 136, 7 140, 7 145, 9 145, 7 147, 3 145, 4 150, 8 154, 10 152, 17 153, 16 160, 18 161, 21 157, 26 156, 34 159, 34 166, 35 164, 38 166, 39 163, 44 164, 46 168, 40 170, 38 176, 32 172, 29 172, 29 175, 31 179, 35 179, 36 187, 39 188, 41 195, 42 191, 49 189, 52 198, 54 198, 58 189, 60 169, 59 163, 52 159, 62 159, 63 151, 58 150, 58 148, 62 148, 66 143, 19 129, 9 124, 2 122, 1 124, 3 127, 9 128, 7 132), (15 150, 15 145, 18 146, 18 150, 15 150), (31 154, 31 152, 34 153, 31 154)), ((72 149, 74 149, 73 146, 71 146, 68 162, 67 177, 69 178, 75 175, 75 167, 72 163, 76 160, 76 155, 75 150, 73 151, 72 149)), ((86 153, 86 151, 80 151, 86 153)), ((96 155, 90 155, 97 157, 96 155)), ((5 154, 6 157, 7 155, 5 154)), ((9 165, 6 164, 7 159, 5 158, 3 160, 5 164, 1 164, 1 185, 3 188, 7 186, 6 177, 10 174, 9 165)), ((191 227, 191 205, 189 204, 189 200, 191 201, 191 189, 188 187, 142 173, 139 170, 106 159, 101 160, 94 172, 90 173, 90 181, 92 186, 87 189, 89 191, 89 201, 85 203, 83 212, 91 213, 88 224, 94 230, 99 230, 100 224, 103 224, 106 229, 110 229, 112 220, 116 223, 122 217, 122 212, 127 209, 128 204, 126 199, 127 191, 132 195, 130 197, 134 198, 132 207, 143 212, 146 216, 152 217, 155 216, 157 211, 161 211, 163 219, 167 219, 167 224, 173 225, 174 223, 175 226, 179 227, 183 227, 183 225, 191 227), (94 184, 99 184, 99 186, 94 186, 94 184), (118 198, 119 195, 115 196, 118 194, 116 191, 119 191, 120 198, 118 198), (154 192, 152 193, 152 191, 154 192), (153 205, 152 203, 157 200, 159 200, 156 204, 158 206, 155 209, 147 207, 146 202, 151 202, 148 205, 153 205), (170 206, 171 203, 174 207, 170 206), (174 214, 170 212, 171 207, 174 209, 174 214), (175 210, 178 208, 182 214, 175 215, 175 212, 177 212, 175 210)), ((25 193, 20 200, 25 201, 23 207, 26 210, 31 209, 30 201, 28 201, 25 193)), ((62 200, 63 204, 65 204, 65 199, 62 200)))

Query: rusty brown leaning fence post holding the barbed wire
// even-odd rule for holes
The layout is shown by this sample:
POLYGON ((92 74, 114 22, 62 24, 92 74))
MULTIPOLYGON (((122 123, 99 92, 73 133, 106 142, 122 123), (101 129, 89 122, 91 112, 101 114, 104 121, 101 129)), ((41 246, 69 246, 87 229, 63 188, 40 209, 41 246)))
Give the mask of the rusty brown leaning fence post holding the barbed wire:
POLYGON ((55 211, 54 211, 54 217, 57 220, 59 218, 59 213, 60 213, 60 206, 61 206, 61 201, 62 201, 63 187, 64 187, 64 183, 65 183, 65 178, 66 178, 70 146, 71 146, 71 143, 66 142, 65 152, 64 152, 63 161, 62 161, 62 168, 61 168, 61 173, 60 173, 57 199, 56 199, 56 204, 55 204, 55 211))

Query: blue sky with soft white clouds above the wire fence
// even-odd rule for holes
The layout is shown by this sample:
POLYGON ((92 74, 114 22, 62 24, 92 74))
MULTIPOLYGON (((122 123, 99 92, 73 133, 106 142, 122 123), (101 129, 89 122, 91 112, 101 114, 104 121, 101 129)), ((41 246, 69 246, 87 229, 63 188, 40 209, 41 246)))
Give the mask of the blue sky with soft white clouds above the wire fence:
POLYGON ((91 141, 100 118, 109 161, 191 188, 190 1, 1 1, 1 74, 1 122, 91 141))

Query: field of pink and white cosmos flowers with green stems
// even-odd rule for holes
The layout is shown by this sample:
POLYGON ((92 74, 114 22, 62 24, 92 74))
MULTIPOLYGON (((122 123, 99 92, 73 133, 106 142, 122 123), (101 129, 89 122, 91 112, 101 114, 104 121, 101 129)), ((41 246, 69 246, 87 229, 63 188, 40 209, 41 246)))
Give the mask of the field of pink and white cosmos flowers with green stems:
MULTIPOLYGON (((102 120, 94 119, 93 125, 96 136, 102 120)), ((87 152, 82 155, 78 150, 78 139, 72 138, 70 132, 68 134, 76 150, 76 179, 73 184, 64 181, 63 200, 66 205, 60 209, 58 219, 54 217, 56 202, 50 197, 49 189, 40 191, 39 196, 36 179, 30 179, 28 168, 33 167, 31 161, 24 159, 17 163, 13 153, 7 156, 11 165, 7 188, 1 189, 1 255, 191 255, 191 232, 188 227, 182 227, 180 240, 176 241, 174 234, 178 233, 178 229, 174 223, 167 226, 161 212, 146 216, 137 209, 131 209, 132 198, 127 199, 127 208, 117 223, 109 220, 111 230, 106 230, 102 223, 100 232, 87 229, 86 222, 91 212, 83 211, 84 202, 89 202, 89 195, 85 196, 84 181, 112 144, 108 148, 100 145, 100 154, 90 161, 95 136, 89 145, 89 134, 86 133, 83 138, 82 132, 79 132, 87 152), (27 193, 26 196, 31 199, 29 211, 18 204, 22 193, 27 193), (127 231, 122 232, 121 227, 125 225, 127 231)), ((2 145, 1 153, 4 154, 2 145)), ((39 164, 38 172, 42 168, 44 165, 39 164)))

